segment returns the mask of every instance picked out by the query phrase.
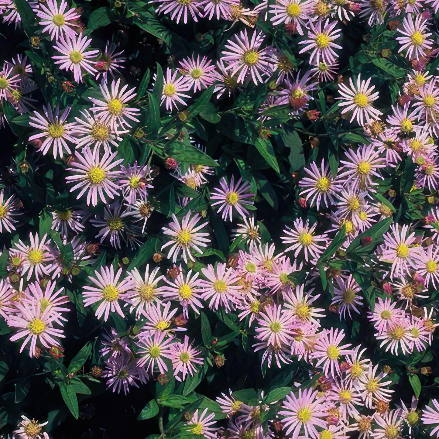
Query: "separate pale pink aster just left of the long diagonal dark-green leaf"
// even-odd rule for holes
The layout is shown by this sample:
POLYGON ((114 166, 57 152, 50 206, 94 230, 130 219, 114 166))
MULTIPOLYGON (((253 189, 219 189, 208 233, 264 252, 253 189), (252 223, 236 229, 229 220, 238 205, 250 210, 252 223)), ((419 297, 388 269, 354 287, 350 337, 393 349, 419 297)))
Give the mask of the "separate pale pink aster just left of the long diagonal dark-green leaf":
POLYGON ((316 235, 314 230, 317 227, 317 223, 309 227, 309 220, 303 223, 303 220, 298 218, 293 223, 294 228, 285 226, 286 229, 283 230, 288 236, 281 236, 282 242, 284 244, 292 244, 285 249, 285 252, 290 252, 295 250, 294 257, 302 251, 305 253, 305 260, 308 262, 309 256, 317 262, 319 256, 324 252, 325 246, 317 244, 318 242, 327 243, 327 235, 316 235))

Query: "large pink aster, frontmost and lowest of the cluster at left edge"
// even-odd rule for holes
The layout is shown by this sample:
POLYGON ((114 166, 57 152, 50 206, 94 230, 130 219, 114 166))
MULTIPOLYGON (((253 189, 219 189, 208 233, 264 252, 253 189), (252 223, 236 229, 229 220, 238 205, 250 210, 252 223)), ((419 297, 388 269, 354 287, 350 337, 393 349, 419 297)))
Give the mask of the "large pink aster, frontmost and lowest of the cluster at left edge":
POLYGON ((10 337, 11 342, 25 337, 20 352, 29 342, 29 356, 31 358, 36 354, 37 342, 47 349, 52 346, 60 346, 58 338, 65 338, 65 335, 62 329, 53 327, 52 323, 58 316, 56 314, 51 315, 50 308, 42 311, 41 305, 36 302, 15 302, 14 307, 18 314, 9 314, 7 324, 9 327, 18 328, 18 332, 10 337))

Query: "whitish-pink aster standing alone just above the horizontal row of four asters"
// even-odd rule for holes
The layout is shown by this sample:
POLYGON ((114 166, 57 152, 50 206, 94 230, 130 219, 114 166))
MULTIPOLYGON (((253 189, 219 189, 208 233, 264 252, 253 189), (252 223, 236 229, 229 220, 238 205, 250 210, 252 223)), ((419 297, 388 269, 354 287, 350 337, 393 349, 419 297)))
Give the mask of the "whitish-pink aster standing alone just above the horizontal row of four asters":
POLYGON ((183 254, 183 260, 187 263, 187 258, 194 261, 194 257, 191 254, 191 249, 194 249, 198 253, 203 253, 200 247, 207 247, 207 243, 211 242, 210 239, 206 238, 209 236, 208 233, 202 233, 201 230, 209 222, 202 223, 197 226, 201 219, 201 216, 197 213, 191 219, 191 212, 187 214, 181 220, 181 224, 177 217, 172 214, 173 221, 169 223, 169 227, 163 227, 163 234, 171 237, 171 240, 162 246, 162 251, 164 248, 172 245, 171 249, 166 256, 168 259, 172 256, 172 262, 176 262, 180 252, 183 254))

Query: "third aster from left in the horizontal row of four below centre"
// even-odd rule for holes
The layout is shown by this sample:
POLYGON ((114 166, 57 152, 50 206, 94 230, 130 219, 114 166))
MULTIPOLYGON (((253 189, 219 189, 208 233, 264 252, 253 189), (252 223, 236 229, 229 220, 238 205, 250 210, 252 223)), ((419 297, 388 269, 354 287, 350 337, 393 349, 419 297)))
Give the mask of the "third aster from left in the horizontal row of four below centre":
POLYGON ((164 300, 180 301, 180 305, 183 306, 183 315, 186 318, 188 318, 188 306, 191 306, 197 314, 200 313, 198 308, 204 308, 203 304, 198 300, 202 298, 199 294, 199 287, 201 286, 201 280, 198 279, 199 273, 194 273, 192 277, 191 274, 192 270, 189 270, 185 278, 180 265, 179 274, 175 279, 175 283, 165 278, 169 286, 159 288, 164 300))

